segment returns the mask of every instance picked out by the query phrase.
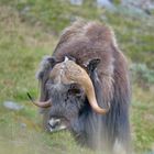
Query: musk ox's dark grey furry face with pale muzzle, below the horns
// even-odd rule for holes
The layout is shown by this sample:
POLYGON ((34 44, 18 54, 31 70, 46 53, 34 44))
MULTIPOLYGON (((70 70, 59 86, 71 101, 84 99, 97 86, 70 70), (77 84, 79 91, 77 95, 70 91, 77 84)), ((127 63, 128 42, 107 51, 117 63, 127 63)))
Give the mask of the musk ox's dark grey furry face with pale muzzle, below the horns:
POLYGON ((48 112, 50 131, 70 129, 84 106, 86 97, 82 88, 76 84, 54 84, 51 79, 45 86, 48 94, 47 99, 52 99, 48 112))

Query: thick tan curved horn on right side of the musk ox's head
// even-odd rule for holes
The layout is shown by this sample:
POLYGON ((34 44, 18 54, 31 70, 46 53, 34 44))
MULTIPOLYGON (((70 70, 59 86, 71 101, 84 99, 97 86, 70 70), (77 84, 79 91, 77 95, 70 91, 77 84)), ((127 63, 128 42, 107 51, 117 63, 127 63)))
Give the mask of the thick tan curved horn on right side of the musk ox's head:
POLYGON ((106 114, 110 109, 110 105, 108 103, 108 109, 103 109, 98 106, 92 81, 86 70, 76 63, 72 61, 68 62, 69 63, 67 63, 68 65, 65 74, 66 77, 72 81, 78 82, 85 89, 89 103, 97 113, 106 114))

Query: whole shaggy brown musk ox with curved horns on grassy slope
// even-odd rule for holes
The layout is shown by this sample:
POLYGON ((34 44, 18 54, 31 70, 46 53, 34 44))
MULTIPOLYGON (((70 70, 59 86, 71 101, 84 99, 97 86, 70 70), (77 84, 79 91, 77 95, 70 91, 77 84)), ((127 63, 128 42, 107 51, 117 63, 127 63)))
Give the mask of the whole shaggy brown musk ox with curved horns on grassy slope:
MULTIPOLYGON (((77 21, 64 30, 37 74, 44 125, 68 129, 77 142, 102 153, 130 154, 130 80, 113 32, 77 21)), ((30 96, 31 97, 31 96, 30 96)))

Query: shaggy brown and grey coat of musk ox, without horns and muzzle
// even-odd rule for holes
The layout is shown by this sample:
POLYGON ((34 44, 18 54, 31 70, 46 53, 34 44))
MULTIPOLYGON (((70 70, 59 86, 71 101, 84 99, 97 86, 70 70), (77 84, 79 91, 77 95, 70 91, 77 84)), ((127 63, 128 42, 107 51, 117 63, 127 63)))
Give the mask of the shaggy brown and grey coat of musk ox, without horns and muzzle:
POLYGON ((48 127, 52 116, 64 117, 70 121, 69 129, 82 145, 107 148, 109 153, 116 153, 114 146, 118 145, 130 154, 129 72, 111 29, 99 22, 77 21, 64 30, 53 57, 43 61, 38 73, 41 101, 53 99, 52 108, 43 111, 44 123, 48 127), (80 90, 78 97, 72 95, 72 85, 61 82, 56 88, 52 82, 48 74, 65 56, 74 59, 88 73, 98 105, 102 108, 108 102, 111 105, 107 114, 96 113, 81 89, 77 88, 80 90), (99 63, 96 64, 96 59, 99 63))

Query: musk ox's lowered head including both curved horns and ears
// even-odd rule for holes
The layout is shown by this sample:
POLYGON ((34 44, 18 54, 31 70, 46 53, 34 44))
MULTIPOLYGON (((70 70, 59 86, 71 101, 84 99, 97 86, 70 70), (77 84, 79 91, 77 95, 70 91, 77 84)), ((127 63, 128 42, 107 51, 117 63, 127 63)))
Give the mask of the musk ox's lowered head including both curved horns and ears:
POLYGON ((73 59, 65 57, 57 63, 53 57, 45 57, 37 74, 41 81, 41 99, 33 103, 48 111, 51 131, 69 128, 78 114, 89 103, 96 113, 106 114, 109 109, 98 106, 90 72, 96 68, 99 59, 88 64, 88 73, 73 59), (87 100, 87 101, 86 101, 87 100))

